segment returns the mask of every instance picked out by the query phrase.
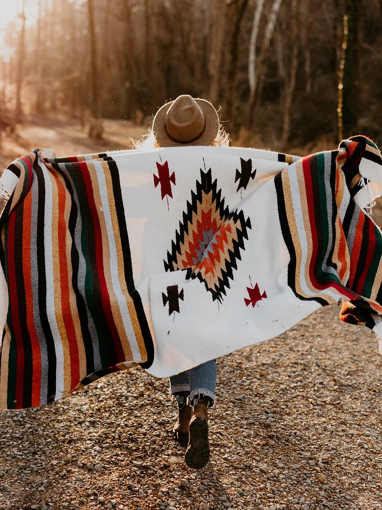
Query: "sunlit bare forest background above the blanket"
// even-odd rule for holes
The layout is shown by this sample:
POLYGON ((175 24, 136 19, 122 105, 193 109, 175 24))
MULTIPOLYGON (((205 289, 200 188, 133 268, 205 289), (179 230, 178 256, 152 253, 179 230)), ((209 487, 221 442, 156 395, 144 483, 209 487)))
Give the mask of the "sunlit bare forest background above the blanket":
POLYGON ((0 162, 49 138, 57 152, 63 137, 81 141, 66 151, 131 147, 184 93, 212 101, 236 145, 382 142, 382 0, 16 4, 0 20, 0 162))

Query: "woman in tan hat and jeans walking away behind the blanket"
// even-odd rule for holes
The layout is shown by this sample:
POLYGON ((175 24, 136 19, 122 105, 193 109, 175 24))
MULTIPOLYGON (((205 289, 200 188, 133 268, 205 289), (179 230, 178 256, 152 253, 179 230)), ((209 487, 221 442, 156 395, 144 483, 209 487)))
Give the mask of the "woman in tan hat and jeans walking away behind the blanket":
MULTIPOLYGON (((209 101, 181 95, 158 110, 152 130, 136 146, 144 150, 189 145, 228 146, 229 136, 209 101)), ((190 468, 201 469, 209 461, 208 409, 215 403, 215 383, 215 360, 170 377, 178 403, 174 437, 187 444, 185 463, 190 468)))

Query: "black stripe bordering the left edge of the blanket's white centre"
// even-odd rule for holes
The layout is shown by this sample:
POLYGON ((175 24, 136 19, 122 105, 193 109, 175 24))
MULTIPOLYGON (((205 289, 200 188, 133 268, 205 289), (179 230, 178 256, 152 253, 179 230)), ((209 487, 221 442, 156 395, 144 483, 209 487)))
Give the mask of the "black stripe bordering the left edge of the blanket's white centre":
POLYGON ((108 162, 110 168, 110 175, 113 184, 113 195, 115 207, 118 218, 118 227, 121 238, 123 265, 125 268, 125 280, 127 290, 134 302, 135 311, 142 331, 143 341, 147 351, 147 362, 141 363, 142 368, 150 368, 154 361, 154 343, 151 337, 150 328, 146 319, 146 314, 143 308, 142 299, 139 292, 135 290, 134 278, 132 273, 131 252, 129 244, 129 236, 127 233, 127 226, 125 220, 125 209, 123 207, 121 183, 119 179, 119 170, 115 161, 108 162))

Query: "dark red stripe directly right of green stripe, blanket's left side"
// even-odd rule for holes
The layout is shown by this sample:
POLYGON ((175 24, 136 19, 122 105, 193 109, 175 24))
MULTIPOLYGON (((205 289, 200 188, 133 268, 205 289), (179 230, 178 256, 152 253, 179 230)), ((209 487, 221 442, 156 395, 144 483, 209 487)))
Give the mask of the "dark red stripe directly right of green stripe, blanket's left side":
MULTIPOLYGON (((117 326, 114 322, 114 317, 112 313, 112 308, 110 304, 110 295, 108 293, 106 278, 104 273, 104 261, 102 254, 102 231, 101 225, 98 216, 98 208, 94 201, 94 192, 92 179, 90 176, 88 163, 86 162, 84 165, 80 165, 83 171, 84 182, 86 186, 86 192, 88 195, 88 202, 90 206, 90 210, 92 212, 93 224, 94 224, 94 244, 95 244, 95 254, 96 254, 96 265, 97 265, 97 274, 99 278, 99 286, 101 291, 101 300, 103 305, 103 311, 105 313, 106 321, 110 332, 112 334, 112 339, 114 342, 114 346, 117 353, 117 359, 122 362, 124 361, 124 352, 121 344, 121 340, 118 334, 117 326)), ((96 179, 96 177, 95 177, 96 179)), ((110 234, 110 233, 109 233, 110 234)), ((113 233, 112 233, 113 235, 113 233)), ((107 263, 107 262, 106 262, 107 263)))

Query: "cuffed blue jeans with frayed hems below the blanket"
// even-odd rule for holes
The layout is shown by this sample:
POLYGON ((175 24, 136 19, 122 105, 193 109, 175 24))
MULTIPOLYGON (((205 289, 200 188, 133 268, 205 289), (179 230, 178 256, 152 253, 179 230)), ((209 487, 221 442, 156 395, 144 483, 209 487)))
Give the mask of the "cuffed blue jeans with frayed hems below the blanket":
POLYGON ((215 402, 216 361, 207 361, 185 372, 170 377, 171 394, 189 392, 189 401, 204 395, 215 402))

